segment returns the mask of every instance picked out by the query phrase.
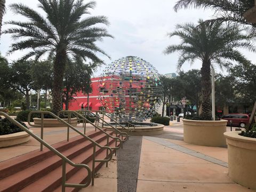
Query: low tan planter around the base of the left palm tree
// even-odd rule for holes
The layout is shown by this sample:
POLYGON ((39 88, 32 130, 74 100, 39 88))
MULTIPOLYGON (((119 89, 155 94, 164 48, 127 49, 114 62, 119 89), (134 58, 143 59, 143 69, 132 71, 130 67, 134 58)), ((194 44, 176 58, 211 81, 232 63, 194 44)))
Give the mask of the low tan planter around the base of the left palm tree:
MULTIPOLYGON (((33 118, 34 124, 41 126, 41 118, 33 118)), ((67 118, 63 118, 64 121, 68 122, 67 118)), ((71 118, 71 123, 70 125, 76 126, 77 125, 77 118, 71 118)), ((58 119, 46 119, 44 118, 44 127, 63 127, 67 126, 61 122, 59 122, 58 119)))

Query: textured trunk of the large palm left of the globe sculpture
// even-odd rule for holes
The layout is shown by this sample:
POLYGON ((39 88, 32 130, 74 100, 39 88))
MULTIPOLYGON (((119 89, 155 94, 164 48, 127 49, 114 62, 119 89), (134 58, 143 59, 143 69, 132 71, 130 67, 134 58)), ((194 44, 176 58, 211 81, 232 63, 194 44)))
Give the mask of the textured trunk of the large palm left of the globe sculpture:
POLYGON ((52 111, 57 114, 62 110, 62 94, 63 94, 63 76, 66 65, 66 52, 61 51, 56 54, 53 66, 53 103, 52 111))

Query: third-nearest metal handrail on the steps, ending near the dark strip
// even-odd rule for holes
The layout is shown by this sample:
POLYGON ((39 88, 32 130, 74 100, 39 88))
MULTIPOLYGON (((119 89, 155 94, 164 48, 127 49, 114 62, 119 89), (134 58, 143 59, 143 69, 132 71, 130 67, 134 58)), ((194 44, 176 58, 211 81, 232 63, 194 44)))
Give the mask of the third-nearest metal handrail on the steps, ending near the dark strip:
MULTIPOLYGON (((60 113, 63 113, 64 116, 66 116, 65 113, 68 113, 68 114, 72 114, 72 113, 73 113, 73 114, 76 115, 77 117, 80 117, 80 118, 82 118, 83 120, 85 120, 86 122, 89 122, 91 125, 93 125, 93 126, 95 127, 95 129, 98 129, 98 130, 100 130, 102 133, 108 135, 108 137, 107 137, 107 146, 109 145, 109 143, 108 143, 108 142, 109 142, 109 137, 112 138, 112 139, 115 139, 115 140, 116 140, 116 145, 115 145, 116 147, 110 147, 111 149, 119 149, 119 148, 121 147, 123 141, 122 141, 120 138, 118 138, 118 137, 113 137, 112 135, 110 135, 109 133, 107 133, 106 131, 104 131, 103 129, 101 129, 100 127, 98 127, 97 125, 94 125, 92 122, 89 121, 89 119, 87 119, 87 118, 85 118, 83 115, 77 113, 77 111, 73 111, 73 110, 61 110, 61 111, 59 111, 58 116, 59 116, 60 113), (117 140, 119 140, 119 143, 120 143, 120 145, 119 145, 118 147, 117 147, 117 140)), ((68 118, 70 118, 70 115, 68 115, 68 118)), ((84 132, 85 132, 85 130, 84 130, 84 132)))

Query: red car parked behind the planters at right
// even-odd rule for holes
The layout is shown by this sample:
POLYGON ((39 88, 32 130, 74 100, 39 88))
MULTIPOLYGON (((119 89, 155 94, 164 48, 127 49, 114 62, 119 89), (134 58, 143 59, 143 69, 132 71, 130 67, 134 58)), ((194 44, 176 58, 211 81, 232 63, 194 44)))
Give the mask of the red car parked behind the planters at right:
POLYGON ((233 126, 244 128, 249 123, 250 116, 248 114, 228 114, 222 116, 221 119, 228 120, 228 126, 230 126, 230 121, 232 121, 233 126))

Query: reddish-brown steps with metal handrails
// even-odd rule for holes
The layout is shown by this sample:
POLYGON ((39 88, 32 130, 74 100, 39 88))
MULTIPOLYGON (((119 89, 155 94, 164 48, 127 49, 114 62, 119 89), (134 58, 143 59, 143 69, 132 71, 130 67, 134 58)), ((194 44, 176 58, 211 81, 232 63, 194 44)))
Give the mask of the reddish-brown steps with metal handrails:
MULTIPOLYGON (((106 131, 106 130, 105 130, 106 131)), ((107 131, 113 134, 111 131, 107 131)), ((107 135, 101 131, 86 133, 88 137, 107 146, 107 135)), ((115 147, 115 139, 109 139, 109 147, 115 147)), ((119 145, 119 142, 117 143, 119 145)), ((52 145, 74 163, 87 164, 92 170, 93 143, 80 136, 52 145)), ((115 152, 115 149, 114 149, 115 152)), ((106 149, 96 147, 95 159, 107 159, 106 149)), ((103 165, 95 162, 95 172, 103 165)), ((66 163, 66 182, 85 183, 87 171, 66 163)), ((0 163, 0 191, 61 191, 62 159, 51 150, 43 148, 9 159, 0 163)), ((66 187, 66 191, 78 191, 79 188, 66 187)))

